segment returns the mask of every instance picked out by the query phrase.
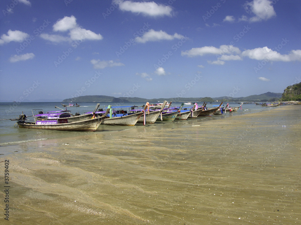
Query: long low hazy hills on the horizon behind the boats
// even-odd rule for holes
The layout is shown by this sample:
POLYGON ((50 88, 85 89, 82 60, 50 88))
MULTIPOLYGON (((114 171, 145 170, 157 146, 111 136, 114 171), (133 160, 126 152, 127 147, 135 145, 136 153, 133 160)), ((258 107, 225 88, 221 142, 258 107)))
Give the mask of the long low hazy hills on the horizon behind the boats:
POLYGON ((85 95, 79 96, 76 98, 66 98, 63 102, 162 102, 162 101, 174 101, 174 102, 215 102, 215 101, 228 101, 228 102, 266 102, 266 101, 279 101, 282 97, 282 93, 273 93, 273 92, 266 92, 261 95, 250 95, 247 97, 239 97, 239 98, 231 98, 228 96, 223 96, 219 98, 153 98, 153 99, 146 99, 146 98, 125 98, 125 97, 113 97, 107 95, 85 95))

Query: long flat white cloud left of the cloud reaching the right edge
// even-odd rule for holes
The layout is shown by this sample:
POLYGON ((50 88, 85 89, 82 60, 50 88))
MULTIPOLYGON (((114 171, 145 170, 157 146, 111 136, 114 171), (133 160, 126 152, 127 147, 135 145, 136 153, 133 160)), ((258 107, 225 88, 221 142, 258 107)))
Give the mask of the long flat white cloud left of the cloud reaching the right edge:
POLYGON ((181 55, 187 55, 188 57, 194 56, 203 56, 206 54, 213 54, 213 55, 224 55, 224 54, 231 54, 231 53, 240 53, 239 48, 234 47, 233 45, 221 45, 219 48, 213 46, 204 46, 201 48, 192 48, 190 50, 182 51, 181 55))

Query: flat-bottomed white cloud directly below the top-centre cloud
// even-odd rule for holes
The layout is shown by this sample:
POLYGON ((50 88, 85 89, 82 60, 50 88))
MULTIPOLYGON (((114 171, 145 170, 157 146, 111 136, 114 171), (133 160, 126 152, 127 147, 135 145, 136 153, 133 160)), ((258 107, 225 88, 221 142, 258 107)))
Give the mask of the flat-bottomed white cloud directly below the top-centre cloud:
POLYGON ((151 29, 148 32, 144 33, 142 37, 136 37, 135 41, 140 43, 145 43, 147 41, 173 40, 173 39, 182 39, 182 38, 185 37, 177 33, 175 33, 174 35, 169 35, 162 30, 155 31, 151 29))

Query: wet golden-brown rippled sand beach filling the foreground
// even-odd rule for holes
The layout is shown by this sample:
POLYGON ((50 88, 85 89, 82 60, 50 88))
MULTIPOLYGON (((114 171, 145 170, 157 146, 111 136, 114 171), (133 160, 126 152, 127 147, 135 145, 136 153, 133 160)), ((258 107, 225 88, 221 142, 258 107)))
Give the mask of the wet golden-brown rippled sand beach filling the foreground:
POLYGON ((29 150, 1 157, 10 199, 0 224, 300 224, 299 112, 20 143, 29 150))

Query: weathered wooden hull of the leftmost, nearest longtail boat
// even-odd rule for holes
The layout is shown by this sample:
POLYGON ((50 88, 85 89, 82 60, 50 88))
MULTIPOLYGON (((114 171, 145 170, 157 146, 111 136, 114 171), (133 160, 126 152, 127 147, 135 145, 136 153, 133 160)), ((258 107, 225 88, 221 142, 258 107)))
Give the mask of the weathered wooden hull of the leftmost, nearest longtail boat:
POLYGON ((87 119, 77 122, 61 123, 61 124, 49 124, 49 125, 37 125, 35 123, 28 123, 24 121, 18 121, 20 128, 33 128, 41 130, 56 130, 56 131, 96 131, 101 124, 103 118, 98 117, 95 119, 87 119))

